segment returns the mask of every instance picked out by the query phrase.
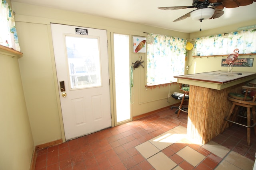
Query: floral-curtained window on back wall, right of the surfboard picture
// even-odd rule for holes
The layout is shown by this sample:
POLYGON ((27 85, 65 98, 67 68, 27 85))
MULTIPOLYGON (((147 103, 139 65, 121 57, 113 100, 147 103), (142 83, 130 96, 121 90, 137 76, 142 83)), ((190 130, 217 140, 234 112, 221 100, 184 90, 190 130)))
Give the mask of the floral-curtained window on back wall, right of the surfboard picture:
POLYGON ((183 75, 186 39, 152 34, 154 41, 147 46, 147 85, 176 82, 173 76, 183 75))

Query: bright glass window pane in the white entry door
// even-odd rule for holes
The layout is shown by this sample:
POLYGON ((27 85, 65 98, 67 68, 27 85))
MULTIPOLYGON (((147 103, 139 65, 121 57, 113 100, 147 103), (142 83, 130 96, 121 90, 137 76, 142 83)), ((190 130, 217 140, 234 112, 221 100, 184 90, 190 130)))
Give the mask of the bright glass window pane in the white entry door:
POLYGON ((98 38, 66 36, 70 88, 101 86, 98 38))

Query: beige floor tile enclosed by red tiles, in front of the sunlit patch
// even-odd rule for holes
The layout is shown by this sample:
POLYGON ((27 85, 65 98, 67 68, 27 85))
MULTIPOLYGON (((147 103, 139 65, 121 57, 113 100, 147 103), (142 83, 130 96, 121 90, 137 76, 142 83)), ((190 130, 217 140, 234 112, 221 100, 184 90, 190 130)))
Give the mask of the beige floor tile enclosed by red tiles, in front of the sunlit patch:
POLYGON ((193 166, 196 166, 205 158, 204 155, 188 146, 178 151, 177 154, 193 166))

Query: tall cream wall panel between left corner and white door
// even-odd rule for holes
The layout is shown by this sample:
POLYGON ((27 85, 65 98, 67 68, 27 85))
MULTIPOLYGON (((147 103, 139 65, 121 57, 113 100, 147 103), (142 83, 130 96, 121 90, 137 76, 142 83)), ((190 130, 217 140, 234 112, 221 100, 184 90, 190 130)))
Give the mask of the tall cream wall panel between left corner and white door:
POLYGON ((16 28, 24 53, 19 64, 34 143, 61 139, 48 26, 16 22, 16 28))

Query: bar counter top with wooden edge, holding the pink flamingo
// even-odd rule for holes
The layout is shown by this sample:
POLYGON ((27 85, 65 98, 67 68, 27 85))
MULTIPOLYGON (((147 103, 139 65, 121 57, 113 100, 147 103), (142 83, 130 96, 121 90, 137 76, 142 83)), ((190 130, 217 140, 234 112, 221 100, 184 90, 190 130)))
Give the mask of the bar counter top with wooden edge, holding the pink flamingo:
POLYGON ((174 76, 178 83, 222 90, 236 84, 256 78, 256 72, 212 71, 197 74, 174 76))

